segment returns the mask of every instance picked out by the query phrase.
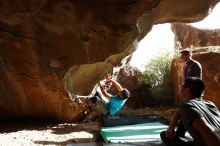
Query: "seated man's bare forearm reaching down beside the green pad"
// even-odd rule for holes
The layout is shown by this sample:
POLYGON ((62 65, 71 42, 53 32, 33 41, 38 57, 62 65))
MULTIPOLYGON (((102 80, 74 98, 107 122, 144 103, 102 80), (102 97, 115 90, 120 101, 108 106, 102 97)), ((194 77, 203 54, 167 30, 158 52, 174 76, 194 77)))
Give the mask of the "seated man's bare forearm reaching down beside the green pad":
POLYGON ((172 116, 170 120, 169 127, 166 130, 167 138, 172 139, 174 137, 174 131, 175 131, 174 129, 178 123, 179 118, 180 118, 180 112, 179 112, 179 109, 176 109, 174 115, 172 116))

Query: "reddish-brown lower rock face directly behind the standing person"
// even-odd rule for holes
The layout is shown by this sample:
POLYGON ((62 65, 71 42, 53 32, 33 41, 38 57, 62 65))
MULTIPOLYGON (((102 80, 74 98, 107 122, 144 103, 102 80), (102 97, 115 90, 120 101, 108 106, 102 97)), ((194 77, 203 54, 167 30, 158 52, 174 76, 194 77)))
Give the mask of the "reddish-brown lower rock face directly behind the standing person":
MULTIPOLYGON (((220 47, 219 47, 220 49, 220 47)), ((220 53, 206 52, 206 53, 195 53, 193 58, 199 61, 202 65, 202 78, 206 85, 204 99, 213 101, 220 107, 220 53)), ((179 85, 183 81, 183 62, 180 58, 176 58, 172 62, 172 82, 174 87, 174 93, 176 101, 178 101, 179 85)))

